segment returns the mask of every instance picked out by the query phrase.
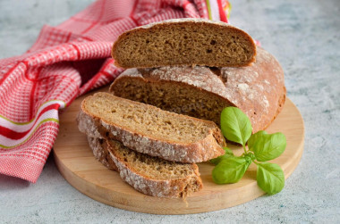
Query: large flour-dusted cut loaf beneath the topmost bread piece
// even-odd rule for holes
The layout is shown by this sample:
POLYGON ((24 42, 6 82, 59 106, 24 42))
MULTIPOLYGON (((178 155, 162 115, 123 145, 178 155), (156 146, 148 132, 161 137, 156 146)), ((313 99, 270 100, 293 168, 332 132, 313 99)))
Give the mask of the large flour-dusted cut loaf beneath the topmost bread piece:
POLYGON ((256 62, 242 68, 161 67, 129 69, 111 85, 114 95, 163 110, 220 122, 226 106, 251 119, 253 132, 266 129, 285 104, 284 71, 258 48, 256 62))

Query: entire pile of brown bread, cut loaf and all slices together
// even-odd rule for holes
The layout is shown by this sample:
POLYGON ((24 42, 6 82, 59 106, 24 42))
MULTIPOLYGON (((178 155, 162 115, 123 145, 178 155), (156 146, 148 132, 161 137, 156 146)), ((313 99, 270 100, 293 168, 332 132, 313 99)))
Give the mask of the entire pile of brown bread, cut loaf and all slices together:
POLYGON ((200 190, 195 163, 224 153, 217 125, 226 106, 245 112, 256 132, 285 103, 276 59, 223 22, 180 19, 132 29, 118 37, 112 56, 127 70, 110 94, 82 102, 78 127, 99 162, 147 195, 200 190))

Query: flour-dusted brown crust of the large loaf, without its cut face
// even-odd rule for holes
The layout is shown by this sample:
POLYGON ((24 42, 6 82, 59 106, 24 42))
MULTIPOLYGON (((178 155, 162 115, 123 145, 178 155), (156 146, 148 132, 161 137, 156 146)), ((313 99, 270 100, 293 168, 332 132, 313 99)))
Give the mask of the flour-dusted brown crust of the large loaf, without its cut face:
MULTIPOLYGON (((124 80, 138 79, 150 85, 173 83, 174 87, 199 89, 221 102, 236 106, 251 119, 253 132, 266 129, 285 104, 285 76, 276 58, 258 47, 257 60, 248 67, 221 68, 219 74, 208 67, 161 67, 124 71, 109 91, 124 80)), ((118 89, 123 91, 123 89, 118 89)))

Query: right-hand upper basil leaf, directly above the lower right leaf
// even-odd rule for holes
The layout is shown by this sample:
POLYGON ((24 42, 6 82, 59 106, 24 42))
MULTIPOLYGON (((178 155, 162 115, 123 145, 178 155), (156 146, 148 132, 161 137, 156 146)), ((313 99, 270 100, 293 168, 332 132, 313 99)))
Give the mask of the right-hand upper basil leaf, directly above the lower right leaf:
POLYGON ((284 153, 285 146, 285 135, 277 132, 275 134, 257 137, 255 144, 250 146, 250 150, 254 152, 259 162, 264 162, 274 160, 284 153))

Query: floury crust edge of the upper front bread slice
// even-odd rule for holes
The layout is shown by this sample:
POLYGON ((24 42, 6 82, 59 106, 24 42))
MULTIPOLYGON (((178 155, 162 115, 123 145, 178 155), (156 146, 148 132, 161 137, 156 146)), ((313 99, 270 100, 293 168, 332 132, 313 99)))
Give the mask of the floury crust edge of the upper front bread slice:
MULTIPOLYGON (((92 96, 89 96, 92 97, 92 96)), ((146 106, 149 110, 161 111, 159 108, 151 105, 140 104, 131 102, 130 100, 123 99, 130 103, 146 106)), ((155 137, 146 136, 144 133, 136 132, 131 129, 124 129, 123 127, 109 123, 106 120, 89 114, 85 108, 86 99, 81 103, 81 111, 78 115, 78 128, 81 132, 87 135, 92 133, 100 133, 103 137, 109 137, 122 142, 124 146, 131 148, 139 153, 146 153, 151 156, 157 156, 167 161, 174 162, 206 162, 210 159, 216 158, 225 153, 222 146, 225 146, 225 138, 220 129, 214 122, 208 120, 199 120, 200 122, 208 123, 212 128, 208 130, 208 134, 203 139, 194 143, 175 143, 155 137)), ((184 116, 176 114, 178 116, 184 116)), ((187 119, 198 120, 185 116, 187 119)))

